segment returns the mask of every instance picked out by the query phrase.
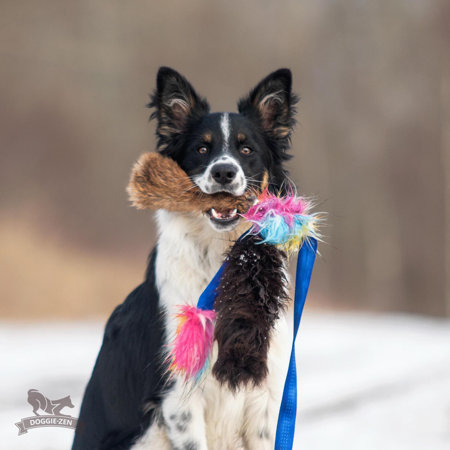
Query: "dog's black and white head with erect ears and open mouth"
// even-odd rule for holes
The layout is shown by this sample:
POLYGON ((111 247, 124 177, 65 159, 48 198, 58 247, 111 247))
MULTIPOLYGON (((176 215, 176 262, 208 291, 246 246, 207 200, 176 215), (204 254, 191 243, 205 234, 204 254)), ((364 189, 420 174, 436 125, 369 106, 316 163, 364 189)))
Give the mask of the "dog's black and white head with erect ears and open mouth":
MULTIPOLYGON (((282 187, 283 162, 295 124, 297 96, 291 92, 289 69, 264 78, 238 101, 238 113, 209 112, 192 85, 169 67, 161 67, 148 107, 155 108, 158 151, 174 159, 207 194, 242 195, 269 183, 282 187)), ((208 211, 214 229, 230 231, 235 211, 208 211)))

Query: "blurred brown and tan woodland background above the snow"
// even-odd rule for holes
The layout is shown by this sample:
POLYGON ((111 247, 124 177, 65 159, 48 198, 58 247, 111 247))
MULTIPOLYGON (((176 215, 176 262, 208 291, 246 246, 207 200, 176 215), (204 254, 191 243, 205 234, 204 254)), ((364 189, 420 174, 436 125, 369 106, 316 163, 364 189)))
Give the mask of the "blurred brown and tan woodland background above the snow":
POLYGON ((2 0, 1 316, 106 317, 139 284, 155 228, 125 186, 161 65, 215 111, 292 69, 289 169, 332 225, 310 306, 450 315, 449 6, 2 0))

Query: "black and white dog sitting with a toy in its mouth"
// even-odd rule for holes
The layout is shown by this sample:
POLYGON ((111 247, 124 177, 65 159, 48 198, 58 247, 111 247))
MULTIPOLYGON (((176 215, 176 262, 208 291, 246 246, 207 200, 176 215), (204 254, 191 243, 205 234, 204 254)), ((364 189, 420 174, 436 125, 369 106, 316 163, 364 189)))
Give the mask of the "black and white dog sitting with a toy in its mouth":
MULTIPOLYGON (((242 195, 260 187, 266 173, 269 189, 279 191, 295 124, 291 86, 290 70, 279 69, 238 101, 237 113, 211 113, 184 76, 161 67, 148 104, 157 120, 157 151, 205 194, 242 195)), ((144 282, 105 327, 72 449, 273 449, 292 341, 284 317, 260 387, 230 392, 210 374, 186 395, 183 380, 168 379, 164 368, 176 306, 196 305, 245 225, 235 210, 214 208, 201 216, 158 210, 156 219, 159 238, 144 282)))

